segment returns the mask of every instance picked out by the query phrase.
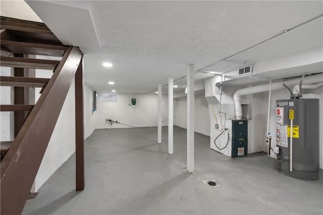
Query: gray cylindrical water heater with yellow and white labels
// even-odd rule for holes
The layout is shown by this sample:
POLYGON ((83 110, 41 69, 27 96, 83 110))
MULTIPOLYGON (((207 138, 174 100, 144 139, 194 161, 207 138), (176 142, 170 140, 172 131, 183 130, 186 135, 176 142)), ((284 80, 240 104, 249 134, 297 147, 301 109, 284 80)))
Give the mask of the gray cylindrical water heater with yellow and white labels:
POLYGON ((303 180, 319 179, 319 99, 276 101, 279 172, 303 180))

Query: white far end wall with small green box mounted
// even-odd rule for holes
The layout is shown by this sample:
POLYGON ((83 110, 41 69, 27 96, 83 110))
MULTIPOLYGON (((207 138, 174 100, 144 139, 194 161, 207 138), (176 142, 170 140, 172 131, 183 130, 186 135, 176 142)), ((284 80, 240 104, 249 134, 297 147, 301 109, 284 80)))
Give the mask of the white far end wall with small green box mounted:
MULTIPOLYGON (((101 93, 97 92, 97 111, 94 112, 95 129, 157 126, 157 94, 118 93, 117 102, 101 102, 100 96, 101 93), (132 105, 131 101, 129 104, 129 98, 136 98, 136 105, 132 105), (109 125, 105 119, 124 124, 109 125)), ((168 125, 168 95, 163 95, 162 121, 163 126, 168 125)))

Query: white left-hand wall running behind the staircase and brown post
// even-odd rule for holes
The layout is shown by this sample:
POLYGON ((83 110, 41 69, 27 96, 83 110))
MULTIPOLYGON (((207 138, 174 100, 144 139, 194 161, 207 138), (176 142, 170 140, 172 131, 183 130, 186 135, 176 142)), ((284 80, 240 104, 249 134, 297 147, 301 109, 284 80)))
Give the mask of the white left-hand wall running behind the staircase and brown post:
MULTIPOLYGON (((42 59, 49 59, 41 57, 42 59)), ((50 70, 36 70, 36 77, 49 78, 50 70)), ((35 90, 35 98, 38 100, 40 88, 35 90)), ((94 116, 92 114, 92 89, 84 85, 84 138, 94 131, 94 116)), ((73 80, 65 99, 59 119, 51 135, 48 147, 38 170, 35 184, 32 190, 37 190, 55 173, 75 152, 75 80, 73 80)))

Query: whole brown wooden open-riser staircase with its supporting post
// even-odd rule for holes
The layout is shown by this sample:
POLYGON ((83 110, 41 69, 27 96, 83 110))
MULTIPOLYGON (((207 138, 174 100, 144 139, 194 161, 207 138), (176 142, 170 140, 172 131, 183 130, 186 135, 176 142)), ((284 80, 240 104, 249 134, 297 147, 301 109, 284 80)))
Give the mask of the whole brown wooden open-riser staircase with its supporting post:
POLYGON ((2 67, 14 76, 0 76, 1 86, 14 89, 13 141, 1 142, 1 214, 21 214, 35 180, 66 95, 75 78, 76 190, 84 189, 83 60, 78 47, 63 45, 43 23, 1 17, 2 67), (30 58, 62 57, 61 61, 30 58), (28 69, 53 70, 51 78, 26 77, 28 69), (26 72, 27 71, 27 72, 26 72), (35 104, 26 100, 28 88, 41 88, 35 104))

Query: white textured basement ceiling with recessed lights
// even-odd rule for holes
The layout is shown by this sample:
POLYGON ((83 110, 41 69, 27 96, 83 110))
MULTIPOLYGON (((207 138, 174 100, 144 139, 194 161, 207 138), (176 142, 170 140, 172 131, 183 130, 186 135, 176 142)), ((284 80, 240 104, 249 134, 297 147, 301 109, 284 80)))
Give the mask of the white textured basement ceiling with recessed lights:
MULTIPOLYGON (((140 93, 155 89, 159 82, 166 84, 169 76, 185 76, 188 64, 202 69, 323 13, 321 1, 58 1, 56 7, 50 7, 55 1, 27 3, 62 41, 80 46, 86 84, 101 91, 140 93), (90 22, 82 21, 80 9, 86 5, 84 16, 90 22), (65 11, 70 19, 50 15, 60 14, 60 7, 69 7, 65 11), (77 38, 92 29, 95 36, 77 38), (93 48, 94 40, 100 48, 93 48), (102 67, 105 61, 114 66, 102 67), (107 84, 111 80, 114 86, 107 84)), ((317 38, 321 36, 312 35, 296 49, 316 46, 317 38)), ((280 43, 255 48, 250 56, 274 58, 281 52, 280 43)), ((286 43, 283 52, 295 51, 297 45, 286 43)), ((236 67, 233 63, 218 65, 222 72, 236 67)), ((175 92, 179 90, 183 88, 175 92)))

